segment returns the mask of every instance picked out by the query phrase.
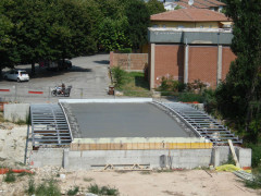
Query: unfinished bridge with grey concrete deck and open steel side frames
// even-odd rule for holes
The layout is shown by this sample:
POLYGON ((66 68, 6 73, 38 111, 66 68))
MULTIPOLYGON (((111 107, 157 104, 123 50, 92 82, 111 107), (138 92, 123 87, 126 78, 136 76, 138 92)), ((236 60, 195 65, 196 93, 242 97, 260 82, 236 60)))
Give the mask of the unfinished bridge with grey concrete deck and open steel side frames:
MULTIPOLYGON (((234 145, 243 143, 195 106, 148 98, 32 105, 30 119, 35 149, 30 159, 54 150, 61 154, 61 164, 71 169, 108 164, 196 168, 214 163, 213 155, 221 155, 217 162, 227 159, 228 139, 234 145)), ((243 151, 236 148, 237 154, 243 151)))

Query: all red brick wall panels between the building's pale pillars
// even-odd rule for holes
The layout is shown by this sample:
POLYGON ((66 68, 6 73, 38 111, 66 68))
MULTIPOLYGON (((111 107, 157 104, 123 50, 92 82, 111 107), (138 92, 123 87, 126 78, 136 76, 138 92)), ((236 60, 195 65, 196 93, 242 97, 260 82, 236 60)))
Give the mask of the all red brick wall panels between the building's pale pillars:
MULTIPOLYGON (((150 46, 149 46, 150 47, 150 46)), ((149 48, 149 51, 151 49, 149 48)), ((154 49, 154 87, 161 84, 162 76, 173 76, 184 82, 183 45, 157 45, 154 49)), ((151 53, 149 53, 151 57, 151 53)), ((229 71, 231 62, 236 59, 227 46, 222 47, 222 79, 229 71)), ((150 69, 150 66, 149 66, 150 69)), ((149 71, 150 74, 150 71, 149 71)), ((188 49, 188 82, 200 79, 210 87, 216 87, 217 46, 189 46, 188 49)), ((149 77, 150 78, 150 77, 149 77)))

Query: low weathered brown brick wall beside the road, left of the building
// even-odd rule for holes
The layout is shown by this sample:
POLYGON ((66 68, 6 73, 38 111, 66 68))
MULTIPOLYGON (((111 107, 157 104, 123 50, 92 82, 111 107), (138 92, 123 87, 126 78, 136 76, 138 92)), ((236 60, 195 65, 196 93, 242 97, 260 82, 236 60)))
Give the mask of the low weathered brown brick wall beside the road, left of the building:
POLYGON ((121 66, 127 71, 144 71, 148 63, 148 53, 114 53, 110 52, 110 66, 121 66))

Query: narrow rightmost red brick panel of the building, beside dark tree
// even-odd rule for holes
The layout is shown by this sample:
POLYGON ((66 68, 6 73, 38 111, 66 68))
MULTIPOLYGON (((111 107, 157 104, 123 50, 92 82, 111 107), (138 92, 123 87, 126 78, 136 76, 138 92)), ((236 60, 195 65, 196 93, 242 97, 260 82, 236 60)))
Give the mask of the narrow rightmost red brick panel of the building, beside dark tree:
POLYGON ((236 56, 229 47, 222 48, 222 79, 225 79, 226 74, 229 71, 231 62, 235 61, 235 59, 236 56))

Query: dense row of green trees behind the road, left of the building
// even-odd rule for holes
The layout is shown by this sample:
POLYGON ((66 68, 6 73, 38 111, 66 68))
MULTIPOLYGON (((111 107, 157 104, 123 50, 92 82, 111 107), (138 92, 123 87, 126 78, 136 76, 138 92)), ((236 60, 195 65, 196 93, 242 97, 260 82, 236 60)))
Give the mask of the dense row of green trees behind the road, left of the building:
POLYGON ((138 49, 157 0, 1 0, 0 71, 99 50, 138 49))

